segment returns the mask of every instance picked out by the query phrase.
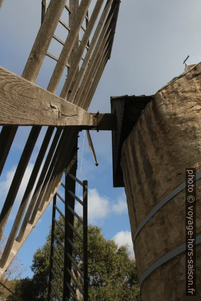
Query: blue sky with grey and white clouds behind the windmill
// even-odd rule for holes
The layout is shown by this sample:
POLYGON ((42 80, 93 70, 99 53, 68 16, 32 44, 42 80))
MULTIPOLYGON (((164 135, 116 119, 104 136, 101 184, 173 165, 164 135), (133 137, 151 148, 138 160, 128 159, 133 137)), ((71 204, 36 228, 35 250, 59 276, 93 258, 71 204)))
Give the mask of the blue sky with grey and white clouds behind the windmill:
MULTIPOLYGON (((111 59, 90 105, 90 112, 110 112, 110 96, 150 95, 174 76, 183 72, 183 60, 188 63, 201 60, 201 3, 198 0, 122 0, 114 38, 111 59)), ((21 75, 41 22, 41 0, 4 0, 0 11, 0 65, 21 75)), ((60 36, 65 33, 58 30, 60 36)), ((64 37, 63 37, 64 38, 64 37)), ((51 45, 54 55, 59 49, 51 45)), ((36 83, 47 88, 49 75, 55 64, 49 58, 36 83)), ((64 81, 64 78, 63 78, 64 81)), ((61 83, 62 84, 62 83, 61 83)), ((59 93, 60 87, 57 89, 59 93)), ((11 152, 0 179, 0 209, 6 197, 17 161, 21 156, 30 128, 17 131, 11 152)), ((45 134, 45 128, 30 159, 20 191, 5 230, 8 234, 21 201, 26 181, 45 134)), ((131 246, 130 224, 123 188, 112 186, 112 150, 110 132, 91 133, 98 167, 93 162, 84 131, 79 135, 77 176, 88 180, 89 221, 102 227, 107 239, 131 246), (84 142, 84 147, 83 147, 84 142), (81 167, 82 161, 82 167, 81 167)), ((61 188, 61 193, 62 188, 61 188)), ((79 210, 79 208, 77 208, 79 210)), ((31 276, 30 265, 36 248, 42 246, 51 223, 51 204, 19 251, 24 264, 24 276, 31 276)))

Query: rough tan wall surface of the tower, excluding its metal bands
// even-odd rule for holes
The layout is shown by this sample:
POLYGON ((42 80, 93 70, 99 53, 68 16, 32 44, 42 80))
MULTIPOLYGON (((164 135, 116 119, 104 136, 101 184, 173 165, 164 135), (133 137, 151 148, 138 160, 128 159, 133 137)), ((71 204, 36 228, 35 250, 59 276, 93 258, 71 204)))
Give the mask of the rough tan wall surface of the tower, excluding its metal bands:
MULTIPOLYGON (((121 166, 132 236, 149 212, 185 181, 185 168, 201 170, 201 63, 160 89, 149 102, 122 149, 121 166)), ((201 233, 201 180, 196 183, 196 234, 201 233)), ((185 190, 165 204, 138 233, 140 277, 156 260, 186 241, 185 190)), ((196 247, 200 252, 200 246, 196 247)), ((197 261, 197 287, 201 285, 197 261)), ((145 279, 143 300, 182 299, 185 261, 180 254, 145 279), (177 272, 178 271, 178 272, 177 272), (175 277, 176 274, 176 277, 175 277), (168 283, 167 283, 168 278, 168 283)), ((199 300, 200 291, 197 291, 199 300)))

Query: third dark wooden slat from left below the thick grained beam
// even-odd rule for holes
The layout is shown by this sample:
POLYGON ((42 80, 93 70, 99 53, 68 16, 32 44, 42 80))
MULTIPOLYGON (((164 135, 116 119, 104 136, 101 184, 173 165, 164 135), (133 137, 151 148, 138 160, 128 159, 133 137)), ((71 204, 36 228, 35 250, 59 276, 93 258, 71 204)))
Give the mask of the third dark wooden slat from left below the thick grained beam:
POLYGON ((41 164, 43 162, 43 159, 44 159, 44 156, 45 156, 48 144, 50 142, 51 136, 53 134, 53 131, 54 131, 54 127, 49 127, 48 128, 48 130, 46 132, 46 135, 44 137, 41 149, 39 150, 39 153, 38 153, 37 159, 35 161, 35 164, 34 164, 34 167, 33 167, 33 170, 32 170, 32 173, 31 173, 31 176, 30 176, 30 179, 29 179, 29 182, 28 182, 27 187, 25 189, 25 193, 24 193, 21 205, 19 206, 19 209, 17 211, 16 218, 14 220, 11 232, 9 234, 9 238, 7 240, 6 246, 4 248, 4 251, 3 251, 3 254, 2 254, 2 257, 1 257, 1 261, 0 261, 0 267, 1 268, 4 267, 4 265, 5 265, 5 263, 6 263, 7 259, 8 259, 10 250, 11 250, 12 245, 14 243, 15 236, 17 234, 19 225, 20 225, 20 223, 22 221, 23 214, 24 214, 26 206, 28 204, 28 201, 29 201, 32 189, 33 189, 33 186, 34 186, 35 181, 36 181, 36 177, 38 175, 38 171, 41 168, 41 164))

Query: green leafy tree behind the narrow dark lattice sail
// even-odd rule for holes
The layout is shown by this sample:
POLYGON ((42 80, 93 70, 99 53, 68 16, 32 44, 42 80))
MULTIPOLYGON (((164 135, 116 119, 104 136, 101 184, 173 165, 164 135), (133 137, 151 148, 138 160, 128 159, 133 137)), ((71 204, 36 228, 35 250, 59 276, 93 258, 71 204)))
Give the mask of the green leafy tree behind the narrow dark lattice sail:
MULTIPOLYGON (((59 224, 64 227, 63 219, 59 219, 59 224)), ((76 230, 82 234, 82 226, 75 223, 76 230)), ((59 239, 64 242, 63 232, 56 227, 55 232, 59 239)), ((50 234, 43 247, 38 248, 33 256, 31 269, 34 273, 32 279, 23 279, 22 285, 16 285, 15 295, 24 300, 47 300, 48 276, 49 276, 49 258, 50 258, 50 234), (21 289, 23 288, 23 289, 21 289), (27 290, 27 295, 26 295, 27 290), (24 294, 24 295, 23 295, 24 294), (29 294, 29 298, 26 298, 29 294)), ((81 241, 74 236, 74 243, 79 251, 83 252, 81 241)), ((56 244, 56 241, 55 241, 56 244)), ((63 256, 63 248, 56 246, 59 253, 63 256)), ((136 274, 135 261, 129 256, 128 247, 119 247, 114 240, 106 240, 101 233, 101 229, 96 226, 88 226, 88 273, 89 277, 89 300, 90 301, 140 301, 140 291, 138 278, 136 274)), ((59 257, 54 255, 56 262, 62 269, 63 265, 59 257)), ((74 261, 79 268, 83 269, 83 262, 79 256, 73 254, 74 261)), ((62 283, 62 278, 53 267, 56 276, 62 283)), ((72 273, 81 284, 79 273, 72 269, 72 273)), ((54 282, 58 289, 58 285, 54 282)), ((76 290, 75 290, 75 293, 76 290)), ((78 296, 78 294, 77 294, 78 296)), ((78 297, 80 300, 82 298, 78 297)), ((13 295, 9 295, 7 300, 14 300, 13 295)))

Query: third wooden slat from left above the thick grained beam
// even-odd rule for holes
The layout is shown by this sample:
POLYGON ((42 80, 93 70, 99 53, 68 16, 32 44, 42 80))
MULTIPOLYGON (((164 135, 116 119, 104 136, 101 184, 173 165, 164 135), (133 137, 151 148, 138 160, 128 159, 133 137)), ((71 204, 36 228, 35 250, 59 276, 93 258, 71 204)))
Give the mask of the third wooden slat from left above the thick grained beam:
POLYGON ((73 82, 73 79, 74 79, 74 76, 75 76, 75 73, 76 73, 76 70, 77 70, 77 67, 79 66, 79 61, 81 60, 83 52, 84 52, 84 50, 87 46, 87 42, 88 42, 89 37, 91 35, 91 32, 93 30, 94 24, 96 22, 98 14, 99 14, 99 11, 100 11, 100 9, 103 5, 103 2, 104 2, 104 0, 98 0, 96 5, 95 5, 95 8, 92 12, 89 24, 88 24, 87 29, 86 29, 86 32, 83 35, 81 44, 79 45, 79 48, 78 48, 77 53, 74 57, 72 66, 69 69, 68 77, 67 77, 67 79, 65 81, 65 84, 64 84, 64 87, 62 89, 61 97, 63 97, 63 98, 65 98, 67 96, 67 94, 69 93, 71 84, 73 82))

